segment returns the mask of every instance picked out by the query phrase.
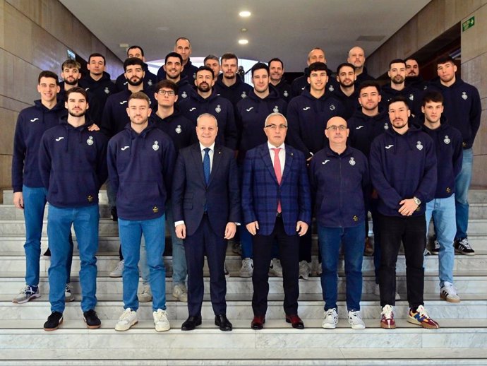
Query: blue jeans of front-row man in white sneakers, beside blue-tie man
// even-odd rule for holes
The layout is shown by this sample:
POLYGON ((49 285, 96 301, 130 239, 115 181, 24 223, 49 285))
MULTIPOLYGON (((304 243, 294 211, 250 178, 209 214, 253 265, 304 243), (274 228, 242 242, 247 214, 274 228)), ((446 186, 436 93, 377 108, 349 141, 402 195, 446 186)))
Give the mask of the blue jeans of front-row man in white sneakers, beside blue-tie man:
POLYGON ((166 309, 166 269, 162 261, 164 252, 165 216, 152 220, 124 220, 119 218, 119 235, 125 266, 122 275, 124 283, 124 309, 138 309, 138 261, 140 239, 144 235, 149 267, 149 284, 152 291, 152 310, 166 309))

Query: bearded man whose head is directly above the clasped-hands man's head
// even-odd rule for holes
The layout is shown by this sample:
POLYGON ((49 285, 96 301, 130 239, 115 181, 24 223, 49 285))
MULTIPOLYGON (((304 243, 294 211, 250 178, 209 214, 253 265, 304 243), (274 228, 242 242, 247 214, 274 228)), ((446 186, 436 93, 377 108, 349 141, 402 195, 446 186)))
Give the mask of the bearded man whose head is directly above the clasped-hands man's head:
POLYGON ((403 59, 390 61, 387 75, 390 77, 390 84, 384 85, 380 91, 382 97, 380 107, 386 109, 392 98, 402 95, 407 100, 412 117, 419 115, 421 112, 419 90, 406 86, 404 83, 406 80, 406 62, 403 59))

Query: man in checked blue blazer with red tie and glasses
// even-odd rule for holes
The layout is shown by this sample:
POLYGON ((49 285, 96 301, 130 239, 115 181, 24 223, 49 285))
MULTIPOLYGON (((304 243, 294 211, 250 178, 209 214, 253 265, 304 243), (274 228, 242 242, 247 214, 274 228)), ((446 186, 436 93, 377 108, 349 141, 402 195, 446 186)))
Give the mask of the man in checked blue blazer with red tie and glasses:
POLYGON ((287 120, 280 113, 265 119, 267 143, 248 150, 242 182, 242 210, 253 235, 253 321, 262 329, 269 293, 272 244, 277 241, 284 281, 284 312, 293 328, 303 329, 298 316, 299 237, 311 223, 311 196, 301 151, 284 144, 287 120), (258 188, 258 189, 257 189, 258 188))

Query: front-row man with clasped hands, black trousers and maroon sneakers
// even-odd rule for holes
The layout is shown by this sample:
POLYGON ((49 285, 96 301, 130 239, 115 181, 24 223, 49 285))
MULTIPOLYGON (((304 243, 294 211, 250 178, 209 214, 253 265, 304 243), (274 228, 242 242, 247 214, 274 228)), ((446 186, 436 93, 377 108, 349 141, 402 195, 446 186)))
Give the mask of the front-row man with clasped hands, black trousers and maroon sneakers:
POLYGON ((423 307, 424 212, 436 189, 435 146, 428 134, 408 124, 411 112, 406 98, 392 99, 388 111, 392 129, 375 138, 369 157, 373 187, 379 196, 380 326, 395 328, 396 261, 402 242, 407 263, 407 320, 425 328, 438 328, 423 307))

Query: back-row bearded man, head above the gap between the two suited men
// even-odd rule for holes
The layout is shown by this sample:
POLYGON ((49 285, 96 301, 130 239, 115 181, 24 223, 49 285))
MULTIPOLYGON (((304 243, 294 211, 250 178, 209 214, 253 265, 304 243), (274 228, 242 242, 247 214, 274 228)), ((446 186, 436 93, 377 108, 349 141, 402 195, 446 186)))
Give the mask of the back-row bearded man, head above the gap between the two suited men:
POLYGON ((217 92, 217 95, 228 99, 236 107, 236 103, 247 98, 252 87, 244 83, 244 81, 241 81, 241 78, 236 75, 239 67, 239 59, 235 54, 223 54, 221 66, 222 74, 218 76, 215 83, 215 92, 217 92))

